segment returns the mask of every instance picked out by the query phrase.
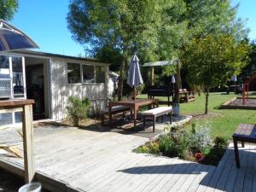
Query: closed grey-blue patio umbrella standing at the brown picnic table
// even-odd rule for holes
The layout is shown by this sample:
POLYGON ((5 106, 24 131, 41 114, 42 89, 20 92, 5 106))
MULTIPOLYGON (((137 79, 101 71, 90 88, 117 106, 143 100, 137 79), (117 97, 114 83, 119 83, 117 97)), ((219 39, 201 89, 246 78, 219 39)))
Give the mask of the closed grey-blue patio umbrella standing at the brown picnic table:
POLYGON ((130 68, 128 71, 127 84, 133 88, 133 100, 136 99, 136 87, 143 84, 143 78, 139 67, 137 55, 131 57, 130 68))

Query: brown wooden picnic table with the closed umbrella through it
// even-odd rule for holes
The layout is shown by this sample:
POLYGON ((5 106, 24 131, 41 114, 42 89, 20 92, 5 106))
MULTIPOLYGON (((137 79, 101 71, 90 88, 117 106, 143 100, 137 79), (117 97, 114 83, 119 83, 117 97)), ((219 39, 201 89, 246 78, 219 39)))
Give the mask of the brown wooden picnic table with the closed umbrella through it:
POLYGON ((133 123, 134 128, 137 125, 137 110, 143 106, 153 106, 158 105, 157 99, 136 99, 136 100, 124 100, 118 102, 109 102, 108 103, 108 111, 109 111, 109 123, 112 123, 112 113, 111 110, 114 106, 128 106, 133 110, 133 123))

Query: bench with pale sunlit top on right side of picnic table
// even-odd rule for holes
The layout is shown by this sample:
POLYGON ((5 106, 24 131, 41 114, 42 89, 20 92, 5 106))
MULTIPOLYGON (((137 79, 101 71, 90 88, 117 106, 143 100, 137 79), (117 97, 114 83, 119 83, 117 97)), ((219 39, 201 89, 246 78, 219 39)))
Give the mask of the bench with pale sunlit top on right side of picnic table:
POLYGON ((157 117, 162 117, 162 123, 164 122, 164 115, 167 113, 171 113, 170 115, 170 123, 172 124, 172 107, 160 107, 160 108, 152 108, 147 111, 143 111, 140 113, 137 113, 138 116, 143 117, 143 127, 146 128, 146 118, 152 118, 153 120, 153 132, 155 128, 155 121, 157 117))

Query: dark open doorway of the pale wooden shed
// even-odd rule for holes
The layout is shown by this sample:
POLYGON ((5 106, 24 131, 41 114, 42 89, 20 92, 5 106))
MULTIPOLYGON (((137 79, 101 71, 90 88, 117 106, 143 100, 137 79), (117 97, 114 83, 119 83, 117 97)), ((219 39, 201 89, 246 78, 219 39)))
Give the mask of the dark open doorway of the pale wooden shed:
POLYGON ((49 118, 49 60, 25 57, 26 98, 33 99, 33 119, 49 118))

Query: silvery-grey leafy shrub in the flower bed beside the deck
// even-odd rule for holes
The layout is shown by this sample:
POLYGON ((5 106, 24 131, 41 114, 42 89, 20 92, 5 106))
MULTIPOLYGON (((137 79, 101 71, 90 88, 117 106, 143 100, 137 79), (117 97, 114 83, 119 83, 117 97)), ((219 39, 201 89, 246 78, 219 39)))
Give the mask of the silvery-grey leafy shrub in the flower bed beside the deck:
POLYGON ((208 123, 205 125, 192 125, 192 131, 188 136, 188 143, 189 150, 191 150, 194 154, 204 151, 212 144, 210 127, 211 125, 208 123))

